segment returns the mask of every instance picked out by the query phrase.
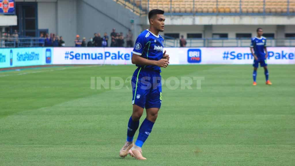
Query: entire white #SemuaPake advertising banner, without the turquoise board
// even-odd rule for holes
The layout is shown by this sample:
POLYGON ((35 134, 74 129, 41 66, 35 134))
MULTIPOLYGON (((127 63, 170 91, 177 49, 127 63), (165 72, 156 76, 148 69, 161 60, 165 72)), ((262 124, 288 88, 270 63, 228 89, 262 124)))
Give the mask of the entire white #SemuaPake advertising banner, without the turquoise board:
MULTIPOLYGON (((53 64, 132 64, 133 48, 53 48, 53 64)), ((253 64, 249 47, 164 48, 170 64, 253 64)), ((268 64, 295 64, 295 47, 268 47, 268 64)))

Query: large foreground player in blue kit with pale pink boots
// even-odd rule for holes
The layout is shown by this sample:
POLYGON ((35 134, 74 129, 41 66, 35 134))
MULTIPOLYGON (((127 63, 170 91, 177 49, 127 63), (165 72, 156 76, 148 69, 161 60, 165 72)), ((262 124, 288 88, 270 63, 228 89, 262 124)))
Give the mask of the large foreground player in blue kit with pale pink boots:
POLYGON ((144 30, 135 42, 132 64, 136 64, 138 68, 131 80, 133 112, 128 122, 127 140, 120 150, 120 157, 130 154, 137 160, 146 160, 142 156, 141 147, 152 131, 162 103, 160 68, 166 68, 169 64, 169 55, 166 51, 163 53, 164 39, 159 35, 159 32, 164 31, 163 14, 163 10, 151 10, 148 14, 150 29, 144 30), (139 128, 134 144, 133 137, 139 127, 144 108, 147 116, 139 128))

